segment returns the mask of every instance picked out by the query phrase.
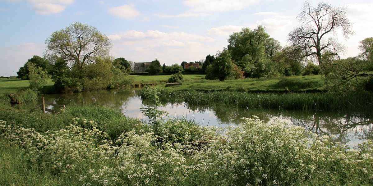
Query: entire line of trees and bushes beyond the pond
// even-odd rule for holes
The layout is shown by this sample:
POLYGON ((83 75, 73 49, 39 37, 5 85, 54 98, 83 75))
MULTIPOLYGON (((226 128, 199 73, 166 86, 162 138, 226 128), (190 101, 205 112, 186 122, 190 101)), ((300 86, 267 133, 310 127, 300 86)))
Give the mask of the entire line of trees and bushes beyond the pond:
MULTIPOLYGON (((322 73, 330 90, 371 89, 373 38, 360 42, 359 56, 340 59, 338 53, 343 47, 330 36, 336 31, 345 37, 353 34, 344 7, 327 3, 314 7, 305 2, 298 19, 301 25, 289 33, 289 46, 282 47, 264 26, 258 25, 231 34, 227 47, 215 56, 209 54, 203 60, 171 66, 161 66, 156 59, 147 72, 206 73, 206 79, 219 81, 322 73), (186 64, 190 67, 184 68, 186 64)), ((109 55, 110 39, 94 26, 73 22, 53 32, 46 44, 44 57, 29 59, 17 72, 19 77, 29 79, 32 74, 32 78, 40 79, 49 75, 55 88, 63 92, 126 87, 132 82, 128 72, 134 63, 123 57, 113 59, 109 55)))

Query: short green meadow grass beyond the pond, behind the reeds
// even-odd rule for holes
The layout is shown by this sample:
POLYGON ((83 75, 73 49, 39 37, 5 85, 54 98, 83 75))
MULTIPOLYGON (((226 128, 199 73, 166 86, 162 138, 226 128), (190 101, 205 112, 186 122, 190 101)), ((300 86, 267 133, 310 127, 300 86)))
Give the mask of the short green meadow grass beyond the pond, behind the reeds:
MULTIPOLYGON (((164 88, 167 79, 171 75, 134 75, 135 84, 156 83, 157 87, 164 88)), ((172 90, 229 90, 241 92, 319 92, 323 91, 324 79, 321 75, 316 76, 295 76, 279 78, 260 78, 260 79, 236 79, 226 80, 224 82, 211 81, 204 79, 205 75, 184 75, 184 82, 179 86, 166 87, 172 90)), ((48 80, 46 88, 53 85, 51 79, 48 80)), ((15 93, 19 88, 29 86, 28 80, 20 79, 0 79, 0 94, 15 93)), ((45 90, 44 93, 53 92, 45 90)), ((42 91, 43 93, 43 91, 42 91)))

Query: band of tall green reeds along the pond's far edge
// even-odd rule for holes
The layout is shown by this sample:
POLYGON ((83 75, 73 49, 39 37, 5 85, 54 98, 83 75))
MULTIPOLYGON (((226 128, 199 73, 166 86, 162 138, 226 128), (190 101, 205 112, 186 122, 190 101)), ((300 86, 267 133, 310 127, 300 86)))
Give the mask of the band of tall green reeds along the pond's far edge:
POLYGON ((284 110, 373 111, 373 95, 367 92, 332 93, 247 93, 230 91, 178 91, 159 89, 161 100, 183 99, 188 104, 223 104, 243 108, 284 110))

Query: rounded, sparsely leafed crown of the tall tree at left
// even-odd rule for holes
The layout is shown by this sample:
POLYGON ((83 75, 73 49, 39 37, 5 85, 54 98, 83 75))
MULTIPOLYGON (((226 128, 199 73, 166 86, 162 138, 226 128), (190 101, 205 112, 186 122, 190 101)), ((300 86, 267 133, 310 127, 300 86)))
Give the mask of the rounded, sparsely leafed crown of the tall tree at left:
POLYGON ((97 57, 105 57, 112 47, 110 39, 94 26, 73 22, 65 29, 53 32, 46 40, 46 56, 63 57, 82 71, 86 63, 94 63, 97 57))

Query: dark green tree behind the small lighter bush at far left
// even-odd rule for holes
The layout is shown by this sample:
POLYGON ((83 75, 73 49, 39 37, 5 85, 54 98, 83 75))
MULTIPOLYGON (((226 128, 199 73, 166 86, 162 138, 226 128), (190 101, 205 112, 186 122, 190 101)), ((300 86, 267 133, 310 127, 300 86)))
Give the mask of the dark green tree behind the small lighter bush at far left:
POLYGON ((19 71, 17 72, 17 75, 19 78, 25 80, 29 79, 28 74, 29 74, 29 69, 28 66, 30 64, 33 64, 35 67, 40 67, 47 73, 51 72, 51 64, 48 62, 48 60, 44 59, 43 57, 40 56, 33 56, 31 59, 27 60, 27 62, 23 65, 23 67, 19 68, 19 71))

